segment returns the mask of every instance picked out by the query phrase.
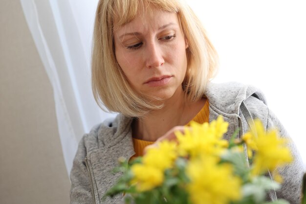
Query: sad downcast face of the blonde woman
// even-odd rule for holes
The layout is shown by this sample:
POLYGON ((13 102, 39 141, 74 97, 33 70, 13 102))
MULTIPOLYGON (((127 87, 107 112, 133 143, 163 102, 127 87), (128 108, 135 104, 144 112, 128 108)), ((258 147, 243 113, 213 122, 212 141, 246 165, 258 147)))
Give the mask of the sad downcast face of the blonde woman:
POLYGON ((140 12, 116 29, 114 44, 119 66, 134 90, 163 100, 182 93, 188 45, 176 13, 153 7, 140 12))

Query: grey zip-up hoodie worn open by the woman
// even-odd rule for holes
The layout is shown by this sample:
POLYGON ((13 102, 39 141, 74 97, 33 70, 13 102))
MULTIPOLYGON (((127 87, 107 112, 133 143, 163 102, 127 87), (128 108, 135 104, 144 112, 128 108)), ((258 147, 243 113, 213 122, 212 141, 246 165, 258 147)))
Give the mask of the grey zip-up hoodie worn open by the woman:
MULTIPOLYGON (((262 92, 254 87, 238 83, 209 83, 205 96, 209 100, 209 121, 222 115, 224 120, 229 122, 225 139, 229 139, 239 127, 240 136, 247 131, 248 116, 241 113, 242 106, 247 108, 247 112, 253 118, 260 118, 264 127, 276 127, 281 136, 288 137, 280 121, 267 108, 262 92)), ((131 118, 118 114, 115 119, 93 127, 89 134, 83 136, 70 173, 70 204, 122 203, 123 195, 107 198, 103 202, 101 199, 121 175, 112 173, 112 169, 118 164, 117 159, 130 159, 135 154, 131 121, 131 118)), ((276 195, 277 198, 286 199, 290 204, 299 204, 303 162, 293 142, 290 143, 290 148, 295 160, 291 165, 281 169, 284 183, 282 189, 276 191, 276 195)))

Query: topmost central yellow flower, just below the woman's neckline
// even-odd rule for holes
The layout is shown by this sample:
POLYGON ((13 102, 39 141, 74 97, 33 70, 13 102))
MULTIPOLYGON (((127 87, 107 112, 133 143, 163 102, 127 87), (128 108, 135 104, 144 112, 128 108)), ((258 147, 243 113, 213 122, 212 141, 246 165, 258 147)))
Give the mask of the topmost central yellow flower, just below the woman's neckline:
POLYGON ((222 139, 227 131, 228 123, 221 116, 211 124, 191 122, 191 128, 186 128, 184 134, 176 132, 178 140, 178 152, 180 156, 190 155, 197 157, 202 154, 220 155, 228 146, 228 142, 222 139))

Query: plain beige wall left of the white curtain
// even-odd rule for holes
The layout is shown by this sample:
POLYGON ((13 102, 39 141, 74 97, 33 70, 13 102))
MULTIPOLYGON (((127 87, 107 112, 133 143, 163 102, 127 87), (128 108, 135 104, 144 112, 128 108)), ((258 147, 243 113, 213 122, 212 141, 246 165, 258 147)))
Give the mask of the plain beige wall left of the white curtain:
POLYGON ((0 0, 0 204, 69 203, 53 92, 20 0, 0 0))

